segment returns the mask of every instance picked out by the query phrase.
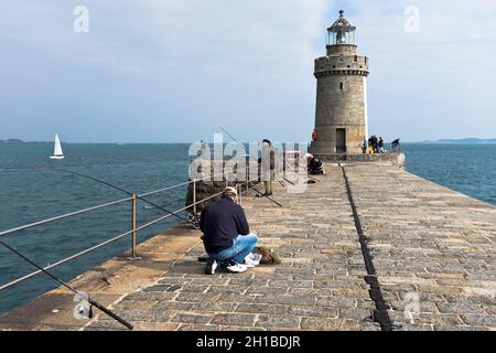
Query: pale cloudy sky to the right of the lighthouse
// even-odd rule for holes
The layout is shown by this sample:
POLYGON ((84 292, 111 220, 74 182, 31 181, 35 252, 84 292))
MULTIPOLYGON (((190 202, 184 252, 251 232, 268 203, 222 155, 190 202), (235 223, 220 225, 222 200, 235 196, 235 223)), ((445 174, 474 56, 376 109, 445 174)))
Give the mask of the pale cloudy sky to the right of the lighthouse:
POLYGON ((414 1, 419 33, 403 29, 411 1, 352 3, 371 62, 373 132, 407 140, 494 136, 494 1, 414 1))

